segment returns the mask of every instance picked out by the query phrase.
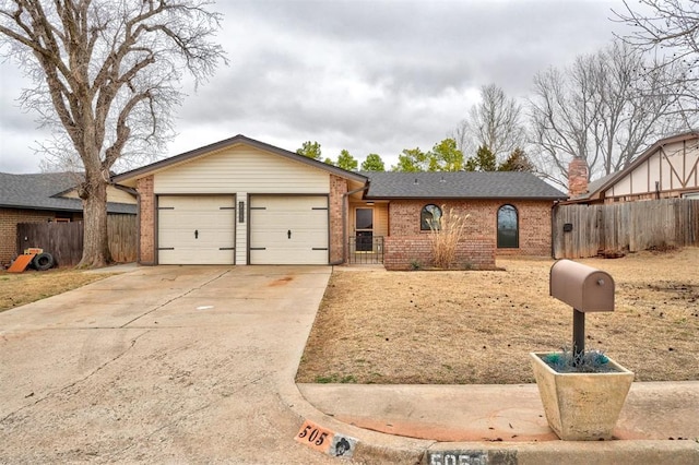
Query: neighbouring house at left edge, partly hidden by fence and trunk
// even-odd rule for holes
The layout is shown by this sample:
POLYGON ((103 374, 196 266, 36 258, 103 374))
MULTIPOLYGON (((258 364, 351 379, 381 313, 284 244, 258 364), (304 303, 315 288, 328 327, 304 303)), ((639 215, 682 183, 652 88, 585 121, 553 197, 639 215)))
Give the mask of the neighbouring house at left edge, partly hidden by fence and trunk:
MULTIPOLYGON (((74 189, 79 182, 80 176, 73 172, 0 172, 0 265, 17 254, 19 223, 82 220, 82 200, 74 189)), ((137 214, 132 193, 110 187, 107 195, 108 214, 137 214)))

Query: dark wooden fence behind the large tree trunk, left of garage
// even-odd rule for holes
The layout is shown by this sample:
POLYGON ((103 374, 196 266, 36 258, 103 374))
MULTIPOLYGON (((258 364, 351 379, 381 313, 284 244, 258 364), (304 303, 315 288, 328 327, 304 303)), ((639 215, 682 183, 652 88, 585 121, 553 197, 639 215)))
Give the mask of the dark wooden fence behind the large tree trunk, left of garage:
MULTIPOLYGON (((137 260, 135 215, 108 215, 107 236, 115 262, 137 260)), ((20 223, 17 224, 17 254, 29 247, 49 252, 57 266, 75 266, 83 255, 83 223, 20 223)))

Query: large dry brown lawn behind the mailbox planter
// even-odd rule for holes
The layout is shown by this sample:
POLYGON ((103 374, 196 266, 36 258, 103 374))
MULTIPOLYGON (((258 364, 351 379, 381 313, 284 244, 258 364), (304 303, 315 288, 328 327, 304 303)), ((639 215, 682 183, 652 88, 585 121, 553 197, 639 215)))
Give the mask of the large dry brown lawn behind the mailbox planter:
MULTIPOLYGON (((581 262, 616 282, 616 310, 588 313, 587 348, 637 381, 699 380, 699 249, 581 262)), ((548 296, 553 260, 503 271, 336 267, 298 382, 534 382, 528 353, 570 347, 572 310, 548 296)))

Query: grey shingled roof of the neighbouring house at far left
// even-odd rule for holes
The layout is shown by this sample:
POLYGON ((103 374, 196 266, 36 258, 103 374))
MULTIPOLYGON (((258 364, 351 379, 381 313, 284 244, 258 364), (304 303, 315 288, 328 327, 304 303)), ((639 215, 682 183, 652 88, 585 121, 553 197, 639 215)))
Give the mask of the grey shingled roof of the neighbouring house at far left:
MULTIPOLYGON (((76 184, 72 172, 11 175, 0 172, 0 207, 82 212, 80 199, 61 196, 76 184)), ((135 205, 107 203, 108 213, 135 214, 135 205)))

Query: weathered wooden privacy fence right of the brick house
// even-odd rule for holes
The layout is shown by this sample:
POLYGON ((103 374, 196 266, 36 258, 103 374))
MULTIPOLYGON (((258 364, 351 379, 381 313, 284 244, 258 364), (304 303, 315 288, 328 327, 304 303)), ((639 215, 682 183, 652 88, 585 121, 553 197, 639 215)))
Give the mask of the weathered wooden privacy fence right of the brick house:
POLYGON ((553 222, 556 259, 699 246, 699 200, 559 205, 553 222))

